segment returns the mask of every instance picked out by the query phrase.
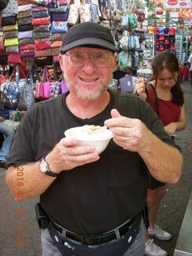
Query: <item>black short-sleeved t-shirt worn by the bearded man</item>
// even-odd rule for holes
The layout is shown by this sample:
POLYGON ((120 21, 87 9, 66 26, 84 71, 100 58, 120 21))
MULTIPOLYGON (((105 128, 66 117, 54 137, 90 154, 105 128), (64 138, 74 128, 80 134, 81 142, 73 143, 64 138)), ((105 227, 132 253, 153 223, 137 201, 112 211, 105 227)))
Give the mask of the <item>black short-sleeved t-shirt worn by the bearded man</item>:
MULTIPOLYGON (((7 166, 38 161, 71 127, 103 126, 113 108, 123 116, 141 119, 154 134, 174 146, 146 102, 132 94, 109 91, 108 106, 93 118, 74 116, 66 106, 66 94, 32 106, 18 126, 7 166)), ((142 158, 111 139, 97 162, 63 171, 40 201, 50 218, 66 229, 78 234, 101 234, 138 214, 146 203, 146 189, 147 170, 142 158)))

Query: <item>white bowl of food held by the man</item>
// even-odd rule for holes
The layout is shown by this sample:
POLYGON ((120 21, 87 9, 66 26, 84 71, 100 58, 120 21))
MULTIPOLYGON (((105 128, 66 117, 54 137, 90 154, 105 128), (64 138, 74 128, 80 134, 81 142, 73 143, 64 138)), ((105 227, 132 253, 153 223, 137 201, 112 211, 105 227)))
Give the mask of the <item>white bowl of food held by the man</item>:
POLYGON ((98 154, 101 154, 109 144, 113 134, 109 129, 101 130, 101 133, 87 134, 83 126, 70 128, 64 133, 66 137, 76 138, 80 145, 94 145, 98 154))

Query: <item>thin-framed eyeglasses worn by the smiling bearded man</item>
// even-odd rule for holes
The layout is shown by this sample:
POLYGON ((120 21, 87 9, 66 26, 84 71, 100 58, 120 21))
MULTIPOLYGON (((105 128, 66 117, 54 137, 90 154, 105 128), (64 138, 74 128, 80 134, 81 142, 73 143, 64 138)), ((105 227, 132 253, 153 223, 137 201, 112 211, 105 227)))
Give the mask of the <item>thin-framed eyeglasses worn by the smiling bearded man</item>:
POLYGON ((113 55, 106 53, 87 54, 82 52, 74 52, 66 54, 67 62, 70 66, 80 67, 86 63, 86 59, 90 57, 91 61, 97 67, 109 67, 113 55))

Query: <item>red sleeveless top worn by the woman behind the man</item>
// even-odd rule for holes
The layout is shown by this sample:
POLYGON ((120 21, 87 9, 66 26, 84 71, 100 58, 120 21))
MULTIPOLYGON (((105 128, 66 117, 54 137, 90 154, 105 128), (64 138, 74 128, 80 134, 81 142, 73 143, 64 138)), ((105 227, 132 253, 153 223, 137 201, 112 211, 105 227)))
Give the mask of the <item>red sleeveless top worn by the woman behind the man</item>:
MULTIPOLYGON (((149 92, 150 106, 157 113, 155 101, 154 101, 154 90, 147 86, 149 92)), ((181 115, 181 106, 170 101, 164 101, 158 98, 158 114, 161 119, 163 126, 168 125, 170 122, 178 122, 181 115)))

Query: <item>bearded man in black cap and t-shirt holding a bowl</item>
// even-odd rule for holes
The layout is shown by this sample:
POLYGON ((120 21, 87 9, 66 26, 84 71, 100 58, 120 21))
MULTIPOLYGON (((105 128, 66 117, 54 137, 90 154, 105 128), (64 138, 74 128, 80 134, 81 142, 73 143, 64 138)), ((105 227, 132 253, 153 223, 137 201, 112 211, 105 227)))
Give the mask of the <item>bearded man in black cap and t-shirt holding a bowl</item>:
POLYGON ((169 183, 181 175, 182 155, 150 106, 108 89, 115 51, 103 26, 70 28, 60 55, 69 92, 32 106, 14 138, 6 181, 18 200, 40 195, 43 256, 143 255, 147 171, 169 183), (102 154, 63 138, 84 125, 111 130, 102 154), (19 196, 17 171, 24 178, 19 196))

